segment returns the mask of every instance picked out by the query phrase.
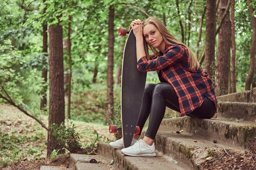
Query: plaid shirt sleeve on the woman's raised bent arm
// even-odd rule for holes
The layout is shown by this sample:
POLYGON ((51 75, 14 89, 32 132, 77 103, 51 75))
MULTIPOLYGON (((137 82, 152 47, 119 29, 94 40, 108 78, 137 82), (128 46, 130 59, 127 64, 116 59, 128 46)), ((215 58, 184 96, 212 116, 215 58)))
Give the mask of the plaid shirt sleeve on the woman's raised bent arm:
POLYGON ((162 70, 168 66, 185 62, 187 60, 186 51, 180 46, 171 46, 169 51, 152 60, 147 60, 146 57, 142 57, 137 62, 137 68, 139 71, 157 71, 162 70))

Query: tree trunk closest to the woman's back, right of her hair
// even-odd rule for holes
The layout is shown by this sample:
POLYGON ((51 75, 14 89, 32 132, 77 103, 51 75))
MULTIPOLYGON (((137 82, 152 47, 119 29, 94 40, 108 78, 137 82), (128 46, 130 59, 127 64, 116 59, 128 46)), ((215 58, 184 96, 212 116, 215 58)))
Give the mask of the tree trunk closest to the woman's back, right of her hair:
POLYGON ((216 32, 216 0, 206 2, 206 33, 204 70, 214 77, 215 71, 215 32, 216 32))

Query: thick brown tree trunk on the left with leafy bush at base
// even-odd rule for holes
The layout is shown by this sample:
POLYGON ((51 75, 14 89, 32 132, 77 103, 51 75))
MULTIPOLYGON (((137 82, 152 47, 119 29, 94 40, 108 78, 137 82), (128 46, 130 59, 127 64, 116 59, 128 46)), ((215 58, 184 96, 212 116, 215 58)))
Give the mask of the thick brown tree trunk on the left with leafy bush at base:
MULTIPOLYGON (((62 26, 49 26, 49 127, 65 121, 64 101, 64 69, 63 69, 63 43, 62 26)), ((48 130, 47 157, 54 149, 61 149, 56 138, 52 135, 52 129, 48 130)), ((60 150, 63 153, 65 150, 60 150)))

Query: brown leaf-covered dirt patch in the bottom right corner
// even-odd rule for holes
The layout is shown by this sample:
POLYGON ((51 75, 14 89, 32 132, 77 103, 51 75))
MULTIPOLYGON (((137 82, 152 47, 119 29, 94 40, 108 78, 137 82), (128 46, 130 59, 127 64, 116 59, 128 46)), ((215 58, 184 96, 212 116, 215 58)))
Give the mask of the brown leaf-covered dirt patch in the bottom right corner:
POLYGON ((210 158, 200 164, 200 170, 255 170, 256 139, 250 142, 249 150, 238 153, 233 150, 223 150, 215 158, 210 158))

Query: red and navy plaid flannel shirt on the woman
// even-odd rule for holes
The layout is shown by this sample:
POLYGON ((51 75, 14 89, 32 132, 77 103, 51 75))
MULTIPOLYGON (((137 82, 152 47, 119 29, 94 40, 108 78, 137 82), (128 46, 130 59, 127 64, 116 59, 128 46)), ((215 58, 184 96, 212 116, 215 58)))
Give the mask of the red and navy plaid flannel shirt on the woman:
POLYGON ((181 116, 200 107, 204 97, 211 100, 217 108, 209 74, 201 67, 190 70, 188 54, 188 49, 182 44, 166 44, 161 56, 152 60, 142 57, 137 62, 139 71, 157 71, 160 82, 168 82, 173 86, 179 99, 181 116))

